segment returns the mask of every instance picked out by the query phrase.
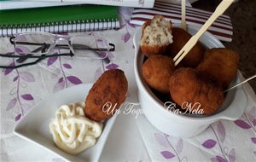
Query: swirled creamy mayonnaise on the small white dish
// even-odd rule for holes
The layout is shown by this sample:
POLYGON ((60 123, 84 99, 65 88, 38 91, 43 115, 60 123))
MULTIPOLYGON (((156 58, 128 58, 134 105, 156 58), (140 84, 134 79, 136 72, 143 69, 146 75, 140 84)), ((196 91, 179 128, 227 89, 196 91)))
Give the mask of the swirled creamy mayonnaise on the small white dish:
POLYGON ((62 105, 49 124, 55 144, 63 151, 77 154, 95 145, 102 134, 102 123, 84 116, 84 102, 62 105))

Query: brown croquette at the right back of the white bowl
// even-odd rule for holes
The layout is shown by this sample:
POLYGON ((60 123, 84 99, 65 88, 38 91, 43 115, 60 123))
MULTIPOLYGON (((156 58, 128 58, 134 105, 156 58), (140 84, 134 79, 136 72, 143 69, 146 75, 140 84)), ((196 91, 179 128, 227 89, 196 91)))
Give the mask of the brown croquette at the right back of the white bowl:
POLYGON ((205 58, 196 68, 202 74, 212 76, 223 89, 236 77, 239 55, 225 48, 208 49, 205 58))

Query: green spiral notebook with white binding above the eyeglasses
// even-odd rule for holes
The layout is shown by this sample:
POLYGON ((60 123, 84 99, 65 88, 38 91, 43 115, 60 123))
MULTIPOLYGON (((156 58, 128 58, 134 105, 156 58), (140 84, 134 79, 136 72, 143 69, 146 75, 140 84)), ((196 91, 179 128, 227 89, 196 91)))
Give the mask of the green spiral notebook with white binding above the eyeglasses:
POLYGON ((0 10, 0 37, 20 32, 85 32, 119 28, 118 8, 73 5, 0 10))

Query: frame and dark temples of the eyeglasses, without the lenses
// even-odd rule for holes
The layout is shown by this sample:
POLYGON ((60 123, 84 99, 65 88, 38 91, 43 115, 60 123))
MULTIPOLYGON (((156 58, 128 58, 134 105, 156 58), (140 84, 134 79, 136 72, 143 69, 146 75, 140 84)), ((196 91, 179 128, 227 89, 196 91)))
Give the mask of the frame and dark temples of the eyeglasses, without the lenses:
MULTIPOLYGON (((16 36, 12 36, 9 38, 9 41, 10 43, 12 43, 14 46, 15 44, 28 44, 28 45, 42 45, 40 46, 38 49, 34 49, 31 53, 29 54, 26 54, 26 55, 3 55, 3 54, 0 54, 0 56, 2 57, 9 57, 9 58, 18 58, 18 62, 21 63, 23 61, 26 61, 26 59, 28 58, 38 58, 38 60, 36 61, 33 61, 33 62, 29 62, 29 63, 23 63, 23 64, 20 64, 18 66, 0 66, 0 68, 20 68, 20 67, 26 67, 26 66, 31 66, 31 65, 34 65, 34 64, 37 64, 39 61, 42 61, 44 60, 45 58, 49 58, 49 57, 55 57, 55 56, 71 56, 73 57, 75 54, 74 54, 74 50, 73 50, 73 46, 71 44, 71 41, 70 39, 73 38, 73 37, 76 37, 76 36, 83 36, 83 35, 73 35, 73 36, 64 36, 64 35, 60 35, 60 34, 53 34, 53 33, 49 33, 49 32, 23 32, 23 33, 20 33, 16 36), (20 35, 25 35, 25 34, 33 34, 33 33, 36 33, 36 34, 44 34, 44 35, 50 35, 50 36, 53 36, 54 37, 54 43, 52 44, 49 44, 49 43, 29 43, 29 42, 19 42, 19 41, 14 41, 15 38, 17 38, 17 36, 20 36, 20 35), (58 44, 56 40, 61 40, 61 39, 65 39, 67 41, 67 44, 58 44), (46 45, 51 45, 50 47, 47 47, 46 45), (62 49, 65 49, 64 47, 67 47, 70 49, 70 53, 66 53, 66 54, 51 54, 51 55, 47 55, 50 53, 50 51, 52 51, 53 49, 55 49, 55 47, 61 47, 62 49), (43 50, 45 48, 48 48, 48 51, 47 52, 43 52, 42 51, 42 54, 41 55, 32 55, 32 54, 35 54, 36 52, 38 52, 39 50, 43 50)), ((86 37, 86 36, 84 36, 86 37)), ((93 51, 96 55, 98 56, 101 56, 99 53, 97 53, 97 51, 114 51, 115 50, 115 45, 113 43, 108 43, 108 45, 111 47, 109 49, 103 49, 103 48, 90 48, 89 46, 85 45, 85 44, 73 44, 73 45, 77 45, 76 48, 84 48, 84 50, 91 50, 93 51)), ((102 60, 106 63, 109 63, 110 60, 108 57, 105 57, 105 58, 102 58, 102 60)))

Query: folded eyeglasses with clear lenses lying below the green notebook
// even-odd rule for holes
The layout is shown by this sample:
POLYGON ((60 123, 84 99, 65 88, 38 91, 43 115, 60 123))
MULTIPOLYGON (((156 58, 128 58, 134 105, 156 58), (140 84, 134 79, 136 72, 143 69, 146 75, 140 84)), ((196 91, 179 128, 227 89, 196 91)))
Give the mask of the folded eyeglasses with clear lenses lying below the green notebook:
POLYGON ((0 68, 26 67, 55 56, 79 56, 102 59, 109 63, 108 52, 115 50, 113 43, 93 35, 67 36, 48 32, 25 32, 10 38, 10 43, 14 45, 15 55, 0 56, 15 58, 15 65, 0 68))

